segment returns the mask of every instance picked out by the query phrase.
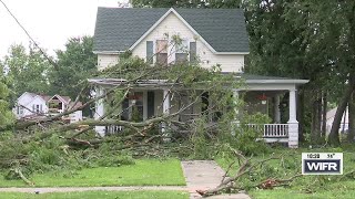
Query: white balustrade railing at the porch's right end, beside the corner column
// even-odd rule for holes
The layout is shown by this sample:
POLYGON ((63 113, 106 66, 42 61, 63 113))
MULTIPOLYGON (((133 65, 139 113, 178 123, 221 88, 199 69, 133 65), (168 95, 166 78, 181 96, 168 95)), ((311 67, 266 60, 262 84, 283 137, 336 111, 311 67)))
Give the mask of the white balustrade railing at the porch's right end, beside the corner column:
POLYGON ((263 137, 288 137, 288 124, 246 124, 246 126, 263 132, 263 137))

